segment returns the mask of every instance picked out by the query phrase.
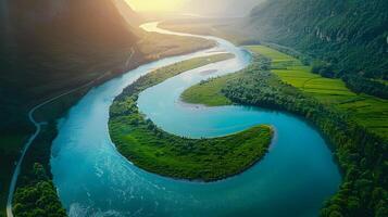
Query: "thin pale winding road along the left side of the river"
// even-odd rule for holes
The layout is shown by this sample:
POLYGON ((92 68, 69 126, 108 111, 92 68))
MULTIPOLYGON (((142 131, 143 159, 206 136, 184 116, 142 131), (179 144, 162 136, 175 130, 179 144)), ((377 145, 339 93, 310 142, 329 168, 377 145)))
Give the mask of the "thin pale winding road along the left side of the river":
MULTIPOLYGON (((127 67, 128 64, 129 64, 129 61, 130 59, 134 56, 135 54, 135 49, 132 48, 130 49, 130 54, 129 54, 129 58, 127 59, 127 61, 125 62, 125 66, 127 67)), ((77 88, 74 88, 72 90, 68 90, 64 93, 61 93, 57 97, 53 97, 49 100, 46 100, 45 102, 36 105, 35 107, 33 107, 29 112, 28 112, 28 119, 30 123, 33 123, 33 125, 35 126, 35 132, 29 137, 29 139, 27 140, 27 142, 24 144, 23 146, 23 150, 22 150, 22 155, 20 157, 20 159, 17 161, 17 164, 16 164, 16 167, 13 171, 13 176, 12 176, 12 179, 11 179, 11 183, 10 183, 10 189, 9 189, 9 193, 8 193, 8 200, 7 200, 7 216, 8 217, 13 217, 13 213, 12 213, 12 201, 13 201, 13 194, 15 192, 15 188, 16 188, 16 183, 17 183, 17 178, 18 178, 18 175, 21 174, 21 167, 22 167, 22 164, 23 164, 23 159, 27 153, 27 151, 29 150, 30 145, 33 144, 34 140, 38 137, 38 135, 40 133, 40 130, 41 130, 41 126, 45 125, 46 123, 43 122, 37 122, 35 118, 34 118, 34 113, 39 110, 40 107, 62 98, 62 97, 65 97, 65 95, 68 95, 71 93, 74 93, 78 90, 82 90, 84 88, 87 88, 87 87, 90 87, 92 86, 96 81, 102 79, 103 77, 105 77, 107 75, 111 74, 111 72, 107 72, 104 74, 102 74, 101 76, 95 78, 93 80, 80 86, 80 87, 77 87, 77 88)))

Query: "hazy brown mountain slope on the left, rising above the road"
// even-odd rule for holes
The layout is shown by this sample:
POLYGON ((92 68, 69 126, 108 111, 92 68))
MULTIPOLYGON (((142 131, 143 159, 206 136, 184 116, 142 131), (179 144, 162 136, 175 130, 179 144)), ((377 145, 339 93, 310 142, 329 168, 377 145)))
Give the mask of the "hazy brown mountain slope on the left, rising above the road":
POLYGON ((4 114, 15 112, 12 103, 28 105, 98 77, 125 62, 138 40, 112 0, 9 0, 0 13, 4 127, 18 123, 4 114))

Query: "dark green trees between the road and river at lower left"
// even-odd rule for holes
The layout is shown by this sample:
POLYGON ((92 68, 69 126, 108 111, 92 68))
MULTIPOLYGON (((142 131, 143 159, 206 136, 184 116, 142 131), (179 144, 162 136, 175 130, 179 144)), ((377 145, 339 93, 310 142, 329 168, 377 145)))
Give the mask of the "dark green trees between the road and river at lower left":
POLYGON ((12 204, 16 217, 66 216, 51 181, 49 167, 51 141, 55 136, 54 123, 43 126, 25 156, 12 204))

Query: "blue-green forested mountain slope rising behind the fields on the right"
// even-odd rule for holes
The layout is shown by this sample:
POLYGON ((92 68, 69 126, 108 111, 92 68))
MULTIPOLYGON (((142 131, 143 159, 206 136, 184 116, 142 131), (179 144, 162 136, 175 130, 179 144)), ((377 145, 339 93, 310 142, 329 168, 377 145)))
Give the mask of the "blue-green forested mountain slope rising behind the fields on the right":
POLYGON ((252 10, 248 26, 263 41, 324 61, 327 75, 353 90, 388 98, 387 11, 386 0, 271 0, 252 10))

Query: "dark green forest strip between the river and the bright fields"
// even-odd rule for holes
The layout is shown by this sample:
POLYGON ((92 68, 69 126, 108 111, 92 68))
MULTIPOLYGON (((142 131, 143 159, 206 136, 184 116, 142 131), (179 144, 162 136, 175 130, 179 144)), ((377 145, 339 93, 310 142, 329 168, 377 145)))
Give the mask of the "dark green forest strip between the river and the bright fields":
POLYGON ((306 117, 324 135, 330 136, 345 180, 325 203, 322 216, 387 216, 387 141, 356 125, 347 114, 283 82, 270 69, 271 60, 258 55, 222 92, 237 103, 285 110, 306 117))

